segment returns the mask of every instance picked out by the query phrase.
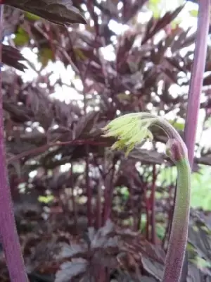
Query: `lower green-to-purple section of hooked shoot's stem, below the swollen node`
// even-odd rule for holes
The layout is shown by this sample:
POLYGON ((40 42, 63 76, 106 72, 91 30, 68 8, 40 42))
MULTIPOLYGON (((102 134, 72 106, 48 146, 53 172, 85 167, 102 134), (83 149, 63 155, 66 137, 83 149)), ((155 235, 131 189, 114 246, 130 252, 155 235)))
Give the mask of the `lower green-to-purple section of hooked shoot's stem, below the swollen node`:
POLYGON ((191 200, 191 168, 187 157, 175 161, 177 190, 172 219, 172 232, 167 248, 162 282, 178 282, 186 250, 188 218, 191 200))

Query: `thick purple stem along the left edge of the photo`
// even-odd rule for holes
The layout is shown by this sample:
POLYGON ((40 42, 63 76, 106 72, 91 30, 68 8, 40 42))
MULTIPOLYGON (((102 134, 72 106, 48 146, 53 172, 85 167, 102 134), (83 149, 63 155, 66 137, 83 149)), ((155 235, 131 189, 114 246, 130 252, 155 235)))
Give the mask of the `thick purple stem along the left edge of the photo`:
MULTIPOLYGON (((3 5, 0 5, 0 37, 3 35, 3 5)), ((0 62, 2 45, 0 42, 0 62)), ((0 66, 1 67, 1 66, 0 66)), ((4 149, 4 118, 2 109, 1 69, 0 69, 0 238, 11 282, 27 282, 23 257, 20 251, 18 233, 15 226, 11 191, 8 184, 6 155, 4 149)))

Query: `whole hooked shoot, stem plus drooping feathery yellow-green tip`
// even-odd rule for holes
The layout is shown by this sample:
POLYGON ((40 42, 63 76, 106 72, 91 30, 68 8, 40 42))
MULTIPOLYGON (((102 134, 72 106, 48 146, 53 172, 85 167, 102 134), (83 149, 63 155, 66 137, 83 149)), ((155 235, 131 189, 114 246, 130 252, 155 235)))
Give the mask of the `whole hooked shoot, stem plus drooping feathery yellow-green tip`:
POLYGON ((152 125, 158 126, 167 135, 166 154, 177 166, 177 193, 162 282, 179 282, 186 250, 191 195, 191 168, 186 145, 170 123, 148 113, 126 114, 115 118, 103 128, 103 136, 115 137, 117 141, 111 149, 126 148, 128 155, 136 144, 147 138, 153 139, 149 130, 152 125))

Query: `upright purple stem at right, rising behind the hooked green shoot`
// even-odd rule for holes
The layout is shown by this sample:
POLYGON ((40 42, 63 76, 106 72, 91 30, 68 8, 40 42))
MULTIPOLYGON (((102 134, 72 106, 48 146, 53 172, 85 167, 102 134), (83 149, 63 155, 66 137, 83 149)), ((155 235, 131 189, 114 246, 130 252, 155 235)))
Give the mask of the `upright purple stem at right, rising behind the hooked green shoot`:
POLYGON ((194 147, 200 109, 200 93, 203 86, 203 74, 207 54, 207 35, 210 23, 210 0, 198 1, 198 27, 196 32, 196 48, 191 71, 191 84, 188 92, 188 108, 184 129, 184 141, 188 148, 188 160, 193 167, 194 147))

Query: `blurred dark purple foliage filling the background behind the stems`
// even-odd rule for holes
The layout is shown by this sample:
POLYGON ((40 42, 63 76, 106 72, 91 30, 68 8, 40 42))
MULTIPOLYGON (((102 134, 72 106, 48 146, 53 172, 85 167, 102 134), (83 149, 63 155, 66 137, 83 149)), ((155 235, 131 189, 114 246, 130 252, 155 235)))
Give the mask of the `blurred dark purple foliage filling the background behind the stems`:
MULTIPOLYGON (((21 4, 12 2, 5 1, 21 4)), ((27 273, 37 282, 160 281, 176 177, 162 152, 166 137, 153 128, 152 145, 125 158, 108 149, 115 140, 101 128, 120 114, 150 111, 165 114, 182 135, 196 35, 170 25, 183 6, 144 21, 138 14, 151 8, 145 0, 72 3, 87 25, 53 25, 12 6, 4 11, 6 158, 27 273)), ((203 128, 210 71, 209 46, 203 128)), ((196 150, 194 179, 211 164, 209 148, 198 142, 196 150)), ((201 181, 193 181, 193 207, 207 185, 201 181)), ((210 205, 198 207, 208 211, 191 212, 188 282, 211 281, 210 205)), ((0 267, 8 281, 3 254, 0 267)))

